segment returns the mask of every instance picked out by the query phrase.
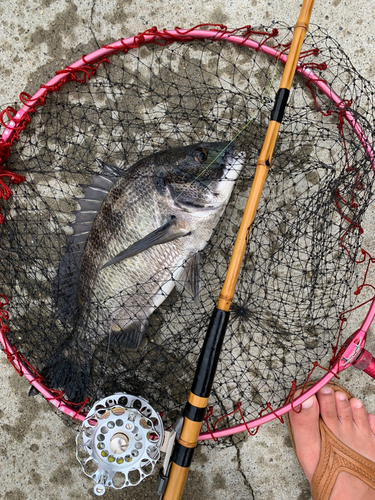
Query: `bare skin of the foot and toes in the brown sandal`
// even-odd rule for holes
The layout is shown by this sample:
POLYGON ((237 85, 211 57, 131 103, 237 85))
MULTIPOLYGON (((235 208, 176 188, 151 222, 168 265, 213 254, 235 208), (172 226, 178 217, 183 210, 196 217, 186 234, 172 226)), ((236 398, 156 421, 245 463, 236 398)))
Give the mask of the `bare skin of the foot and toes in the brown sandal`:
MULTIPOLYGON (((319 412, 329 430, 351 449, 375 462, 375 415, 367 415, 363 403, 348 401, 343 392, 325 386, 302 404, 302 411, 289 413, 297 458, 311 483, 319 462, 321 437, 319 412)), ((330 500, 374 500, 375 490, 357 477, 340 472, 330 500)))

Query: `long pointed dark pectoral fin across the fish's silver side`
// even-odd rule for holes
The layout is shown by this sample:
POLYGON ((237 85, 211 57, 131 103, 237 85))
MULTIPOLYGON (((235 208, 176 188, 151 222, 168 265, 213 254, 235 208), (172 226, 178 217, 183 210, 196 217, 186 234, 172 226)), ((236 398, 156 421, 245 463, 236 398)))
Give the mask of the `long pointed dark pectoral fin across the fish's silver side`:
POLYGON ((152 231, 141 240, 136 241, 126 250, 123 250, 113 257, 113 259, 106 262, 104 266, 101 267, 101 270, 111 266, 112 264, 117 264, 124 259, 128 259, 129 257, 134 257, 135 255, 142 253, 155 245, 162 245, 163 243, 168 243, 169 241, 176 240, 177 238, 182 238, 188 234, 190 234, 190 231, 179 227, 176 217, 172 216, 166 224, 158 227, 155 231, 152 231))

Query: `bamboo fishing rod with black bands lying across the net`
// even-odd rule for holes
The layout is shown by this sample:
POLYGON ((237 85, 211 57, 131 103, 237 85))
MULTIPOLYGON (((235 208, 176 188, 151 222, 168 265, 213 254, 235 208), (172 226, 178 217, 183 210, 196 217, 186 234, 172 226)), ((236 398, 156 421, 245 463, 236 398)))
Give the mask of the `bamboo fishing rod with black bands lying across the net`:
POLYGON ((198 444, 198 437, 207 410, 208 399, 229 320, 229 308, 233 300, 246 245, 249 241, 251 225, 254 221, 263 186, 271 167, 276 139, 287 105, 302 44, 308 29, 313 4, 314 0, 303 1, 297 23, 294 27, 288 59, 285 64, 279 90, 276 94, 263 147, 257 161, 254 180, 238 230, 224 285, 219 295, 217 307, 211 316, 195 371, 191 392, 183 413, 184 422, 181 434, 174 447, 170 467, 168 468, 166 477, 164 477, 166 487, 164 493, 161 493, 160 496, 162 500, 179 500, 181 498, 194 450, 198 444))

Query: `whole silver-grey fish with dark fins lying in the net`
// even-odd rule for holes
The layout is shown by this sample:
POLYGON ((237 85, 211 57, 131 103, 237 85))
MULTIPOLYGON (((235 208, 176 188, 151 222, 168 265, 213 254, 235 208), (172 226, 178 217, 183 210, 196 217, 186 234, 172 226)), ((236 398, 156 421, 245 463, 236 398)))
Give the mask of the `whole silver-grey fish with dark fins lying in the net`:
POLYGON ((74 331, 41 370, 44 385, 82 402, 104 340, 137 349, 175 286, 199 302, 199 252, 245 164, 234 151, 235 143, 181 146, 126 170, 98 160, 54 281, 56 315, 74 331))

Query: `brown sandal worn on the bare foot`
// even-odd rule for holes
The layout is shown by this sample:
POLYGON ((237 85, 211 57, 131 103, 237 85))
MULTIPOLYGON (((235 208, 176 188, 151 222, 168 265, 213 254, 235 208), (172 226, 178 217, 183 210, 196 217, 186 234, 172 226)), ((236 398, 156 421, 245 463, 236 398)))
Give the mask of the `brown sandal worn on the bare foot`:
MULTIPOLYGON (((308 383, 305 390, 314 384, 315 381, 308 383)), ((348 396, 348 399, 354 397, 349 391, 336 382, 329 382, 327 385, 335 392, 344 392, 348 396)), ((286 422, 293 450, 297 456, 289 414, 286 415, 286 422)), ((322 449, 318 466, 311 481, 311 496, 313 500, 329 499, 340 472, 349 472, 349 474, 358 477, 361 481, 375 490, 375 462, 359 455, 359 453, 337 439, 321 418, 319 418, 319 429, 322 437, 322 449)))

